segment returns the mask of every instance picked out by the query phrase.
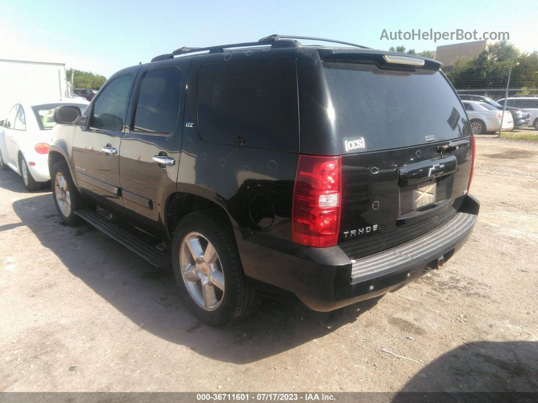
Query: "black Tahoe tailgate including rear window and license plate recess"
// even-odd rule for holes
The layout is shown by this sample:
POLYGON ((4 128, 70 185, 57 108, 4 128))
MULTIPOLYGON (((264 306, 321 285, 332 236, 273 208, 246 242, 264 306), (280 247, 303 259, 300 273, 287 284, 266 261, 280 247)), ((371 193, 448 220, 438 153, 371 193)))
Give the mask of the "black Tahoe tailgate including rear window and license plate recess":
POLYGON ((449 221, 470 178, 470 126, 436 69, 324 63, 342 147, 338 245, 352 259, 449 221))

